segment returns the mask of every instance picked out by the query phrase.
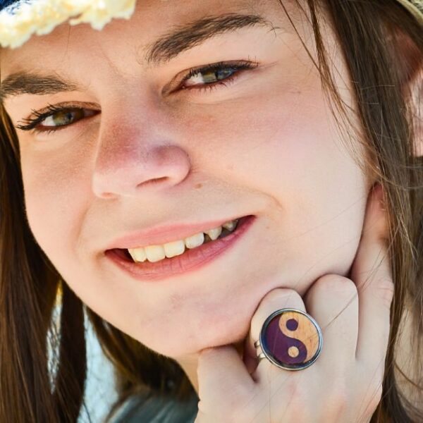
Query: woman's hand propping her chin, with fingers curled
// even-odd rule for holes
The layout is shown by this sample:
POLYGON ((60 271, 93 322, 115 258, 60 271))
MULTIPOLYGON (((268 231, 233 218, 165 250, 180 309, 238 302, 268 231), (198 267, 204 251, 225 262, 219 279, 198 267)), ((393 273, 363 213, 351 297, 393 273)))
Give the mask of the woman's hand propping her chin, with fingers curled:
POLYGON ((369 422, 381 400, 393 298, 382 195, 379 184, 369 194, 351 278, 321 276, 304 302, 295 290, 271 290, 252 317, 250 361, 257 361, 254 342, 264 320, 284 307, 307 312, 321 327, 317 361, 290 372, 263 359, 250 374, 233 345, 202 350, 195 423, 369 422))

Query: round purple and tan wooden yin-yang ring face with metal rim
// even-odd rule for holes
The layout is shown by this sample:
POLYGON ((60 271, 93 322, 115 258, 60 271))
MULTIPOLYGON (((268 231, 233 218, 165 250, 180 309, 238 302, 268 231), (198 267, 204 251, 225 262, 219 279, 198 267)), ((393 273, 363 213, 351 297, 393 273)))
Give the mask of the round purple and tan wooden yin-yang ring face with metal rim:
POLYGON ((309 314, 298 309, 278 309, 267 317, 260 332, 264 355, 276 366, 301 370, 319 357, 323 336, 309 314))

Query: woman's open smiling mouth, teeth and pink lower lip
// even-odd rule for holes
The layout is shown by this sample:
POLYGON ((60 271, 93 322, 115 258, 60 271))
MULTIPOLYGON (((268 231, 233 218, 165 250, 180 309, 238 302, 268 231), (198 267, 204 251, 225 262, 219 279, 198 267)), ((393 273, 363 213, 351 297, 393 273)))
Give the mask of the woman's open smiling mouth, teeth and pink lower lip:
POLYGON ((106 250, 105 255, 125 273, 141 281, 161 280, 200 269, 233 247, 254 221, 255 216, 245 216, 183 240, 139 248, 114 248, 106 250))

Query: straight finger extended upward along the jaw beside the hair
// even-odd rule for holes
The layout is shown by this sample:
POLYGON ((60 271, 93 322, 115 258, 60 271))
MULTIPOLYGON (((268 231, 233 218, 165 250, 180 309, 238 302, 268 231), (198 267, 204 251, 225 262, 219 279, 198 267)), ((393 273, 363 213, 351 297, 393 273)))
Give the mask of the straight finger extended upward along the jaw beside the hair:
POLYGON ((393 278, 387 251, 388 224, 383 191, 377 185, 369 194, 362 239, 351 268, 359 297, 359 331, 356 357, 369 368, 384 370, 390 329, 393 278))

